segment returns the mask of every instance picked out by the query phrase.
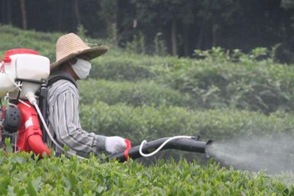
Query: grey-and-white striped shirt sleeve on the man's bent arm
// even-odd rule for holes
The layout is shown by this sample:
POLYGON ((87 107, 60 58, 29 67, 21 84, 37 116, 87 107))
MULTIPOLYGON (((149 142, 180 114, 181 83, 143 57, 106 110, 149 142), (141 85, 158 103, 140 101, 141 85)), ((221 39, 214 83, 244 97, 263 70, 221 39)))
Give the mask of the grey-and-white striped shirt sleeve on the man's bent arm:
POLYGON ((58 142, 76 151, 98 153, 105 150, 105 136, 84 131, 79 122, 78 97, 68 91, 58 95, 54 104, 55 132, 58 142))

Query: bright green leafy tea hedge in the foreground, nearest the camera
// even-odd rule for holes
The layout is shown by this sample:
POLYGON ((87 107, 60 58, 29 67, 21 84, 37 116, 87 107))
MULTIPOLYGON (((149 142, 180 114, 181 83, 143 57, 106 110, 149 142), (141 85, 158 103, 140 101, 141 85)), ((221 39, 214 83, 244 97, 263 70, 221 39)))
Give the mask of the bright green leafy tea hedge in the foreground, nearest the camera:
POLYGON ((0 150, 0 194, 3 196, 113 196, 113 195, 293 195, 294 187, 264 172, 249 173, 220 168, 159 161, 145 167, 87 160, 45 158, 30 154, 5 155, 0 150))

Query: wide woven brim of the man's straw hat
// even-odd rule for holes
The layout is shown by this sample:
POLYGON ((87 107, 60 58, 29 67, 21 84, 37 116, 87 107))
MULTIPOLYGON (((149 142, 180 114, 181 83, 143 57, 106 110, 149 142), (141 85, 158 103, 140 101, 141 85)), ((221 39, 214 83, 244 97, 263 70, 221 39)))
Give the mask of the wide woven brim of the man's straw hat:
POLYGON ((104 54, 107 51, 108 51, 107 46, 99 46, 99 47, 94 47, 94 48, 74 52, 72 54, 67 55, 66 57, 63 57, 62 59, 59 59, 58 61, 55 61, 54 63, 51 63, 50 70, 54 70, 62 63, 66 62, 66 61, 70 60, 71 58, 78 56, 80 54, 87 54, 89 56, 89 59, 92 60, 94 58, 97 58, 98 56, 101 56, 102 54, 104 54))

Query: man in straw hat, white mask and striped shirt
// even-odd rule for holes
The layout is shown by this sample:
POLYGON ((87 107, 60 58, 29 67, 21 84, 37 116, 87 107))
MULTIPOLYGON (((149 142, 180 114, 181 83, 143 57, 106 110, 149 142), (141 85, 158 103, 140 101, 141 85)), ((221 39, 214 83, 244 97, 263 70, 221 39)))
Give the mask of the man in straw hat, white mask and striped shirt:
MULTIPOLYGON (((80 151, 98 154, 105 150, 113 154, 126 148, 121 137, 106 137, 84 131, 78 117, 79 93, 75 81, 86 79, 91 70, 89 60, 107 50, 106 46, 88 47, 74 33, 61 36, 56 43, 56 62, 50 65, 47 124, 57 142, 61 146, 68 146, 73 153, 80 151)), ((62 151, 55 149, 55 152, 62 151)))

